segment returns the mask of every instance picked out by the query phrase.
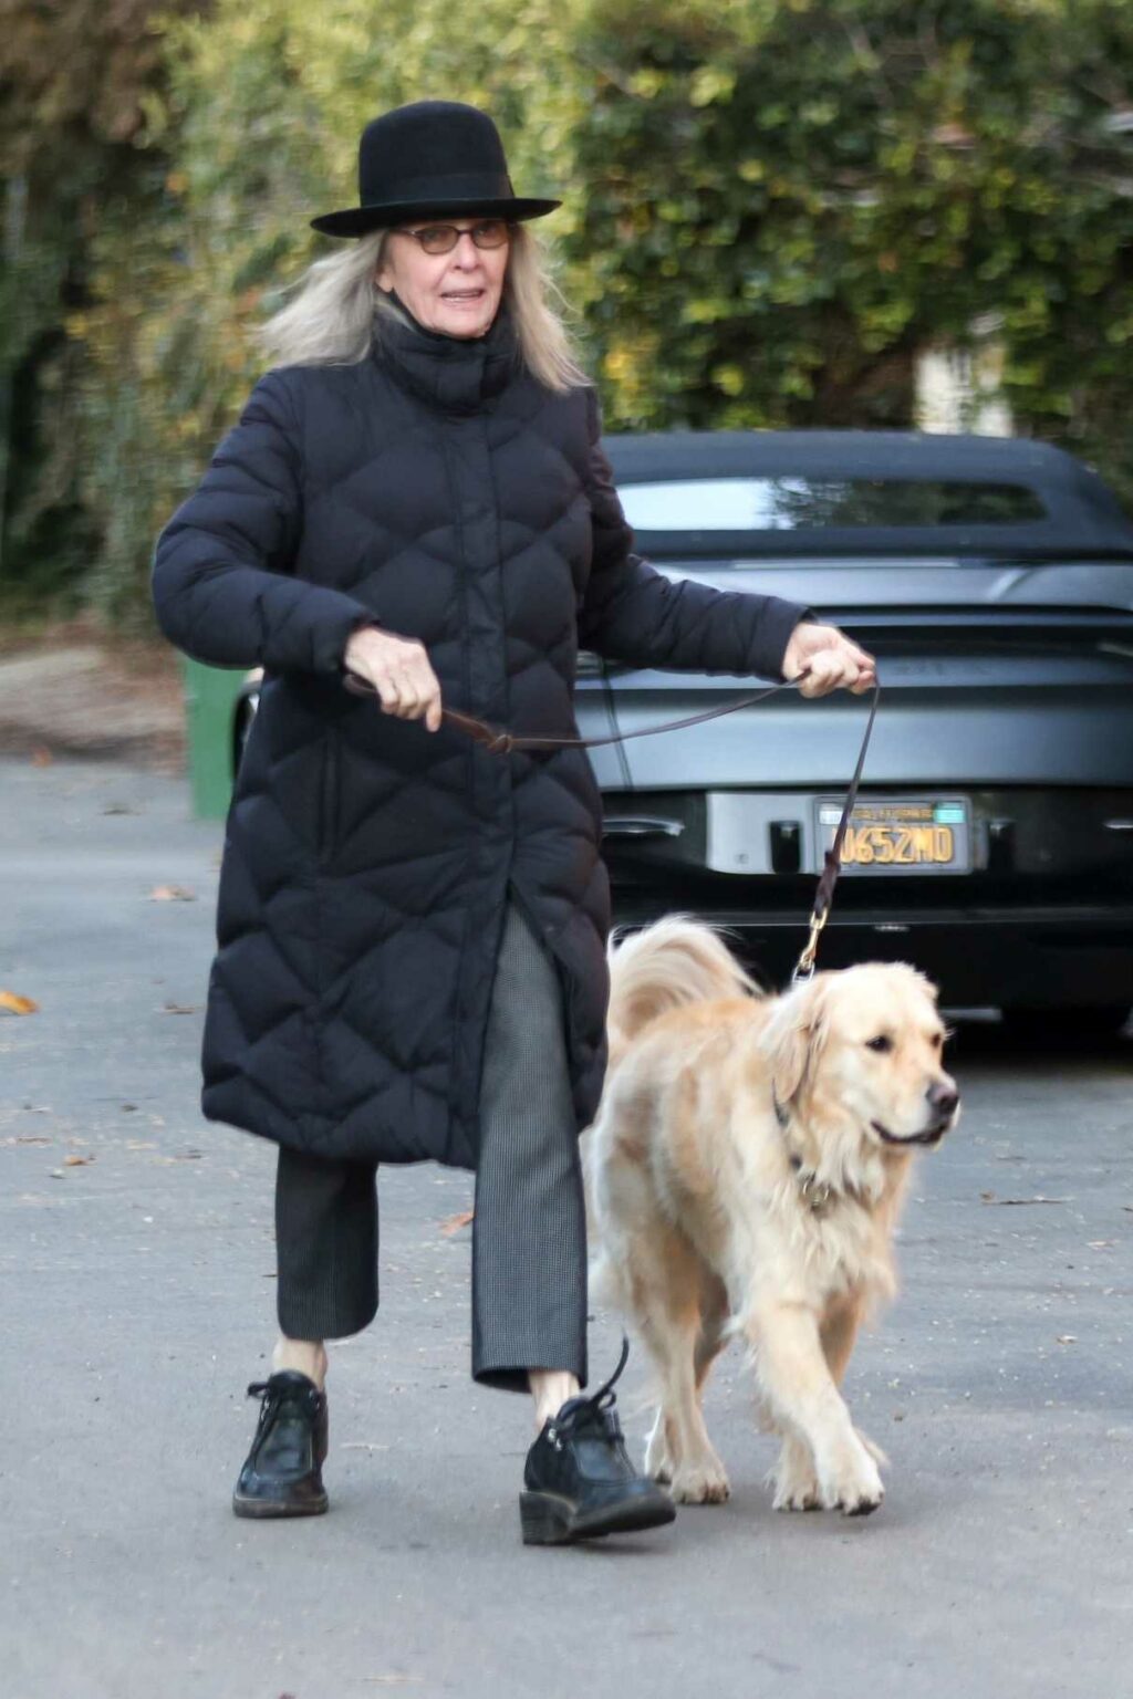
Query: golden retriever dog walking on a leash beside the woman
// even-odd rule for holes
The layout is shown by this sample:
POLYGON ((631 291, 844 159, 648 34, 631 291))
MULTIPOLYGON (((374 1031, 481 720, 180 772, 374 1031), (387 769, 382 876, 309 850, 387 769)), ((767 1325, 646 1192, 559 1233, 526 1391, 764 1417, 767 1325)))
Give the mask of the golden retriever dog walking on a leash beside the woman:
POLYGON ((866 1516, 887 1459, 839 1391, 914 1152, 955 1126, 936 991, 905 965, 817 974, 764 996, 717 933, 669 916, 610 946, 610 1069, 588 1138, 595 1291, 659 1376, 645 1470, 719 1504, 702 1393, 734 1335, 781 1437, 780 1510, 866 1516))

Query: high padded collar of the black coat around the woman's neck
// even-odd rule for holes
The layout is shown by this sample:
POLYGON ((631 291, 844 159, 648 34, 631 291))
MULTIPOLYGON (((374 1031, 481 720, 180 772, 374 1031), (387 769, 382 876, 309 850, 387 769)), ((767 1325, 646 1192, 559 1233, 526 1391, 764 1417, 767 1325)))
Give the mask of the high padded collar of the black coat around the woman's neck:
POLYGON ((389 299, 404 319, 380 314, 374 358, 438 413, 477 413, 518 370, 518 341, 506 304, 501 302, 484 336, 445 336, 418 325, 392 292, 389 299))

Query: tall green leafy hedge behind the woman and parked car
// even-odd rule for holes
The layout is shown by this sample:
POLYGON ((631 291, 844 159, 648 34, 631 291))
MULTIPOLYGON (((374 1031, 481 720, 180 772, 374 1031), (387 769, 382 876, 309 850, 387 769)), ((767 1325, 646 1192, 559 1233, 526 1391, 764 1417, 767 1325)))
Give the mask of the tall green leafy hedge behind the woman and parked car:
MULTIPOLYGON (((1133 500, 1126 0, 132 0, 131 22, 138 122, 41 173, 0 285, 22 409, 0 598, 22 557, 32 590, 148 622, 156 530, 255 381, 248 331, 326 251, 307 217, 355 199, 365 121, 425 95, 488 105, 516 183, 564 195, 545 229, 608 428, 909 425, 919 355, 994 326, 1016 426, 1133 500)), ((46 107, 31 139, 58 160, 46 107)))

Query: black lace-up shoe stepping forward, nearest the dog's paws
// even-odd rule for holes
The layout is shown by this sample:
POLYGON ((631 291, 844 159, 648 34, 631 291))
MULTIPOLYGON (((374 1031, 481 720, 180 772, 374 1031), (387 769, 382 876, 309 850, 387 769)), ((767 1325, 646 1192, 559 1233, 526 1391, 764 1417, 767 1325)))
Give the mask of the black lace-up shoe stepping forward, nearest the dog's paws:
POLYGON ((656 1482, 639 1475, 625 1453, 613 1414, 613 1383, 630 1354, 589 1398, 567 1398, 544 1422, 527 1454, 520 1493, 525 1546, 567 1546, 601 1534, 629 1534, 661 1527, 676 1517, 676 1505, 656 1482))

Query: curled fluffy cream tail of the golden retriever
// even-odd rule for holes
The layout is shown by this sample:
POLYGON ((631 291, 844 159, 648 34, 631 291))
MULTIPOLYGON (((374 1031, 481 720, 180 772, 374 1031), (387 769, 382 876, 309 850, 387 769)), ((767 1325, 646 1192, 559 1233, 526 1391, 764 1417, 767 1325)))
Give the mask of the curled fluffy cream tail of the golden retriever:
POLYGON ((690 1002, 713 997, 763 997, 724 938, 690 914, 666 914, 610 948, 610 1067, 651 1021, 690 1002))

